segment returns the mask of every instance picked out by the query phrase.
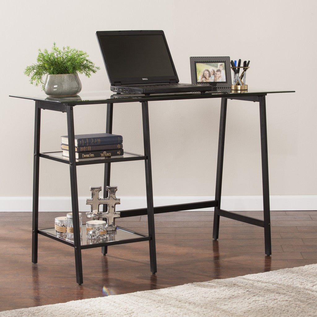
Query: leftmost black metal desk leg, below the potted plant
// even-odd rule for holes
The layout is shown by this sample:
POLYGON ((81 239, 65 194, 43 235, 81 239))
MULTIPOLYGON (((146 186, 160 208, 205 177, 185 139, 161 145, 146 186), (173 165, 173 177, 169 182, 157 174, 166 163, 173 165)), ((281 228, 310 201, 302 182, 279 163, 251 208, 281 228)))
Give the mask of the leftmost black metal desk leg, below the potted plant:
POLYGON ((33 208, 32 208, 32 262, 37 263, 38 215, 39 215, 39 164, 40 164, 40 130, 41 108, 35 102, 34 123, 34 161, 33 161, 33 208))

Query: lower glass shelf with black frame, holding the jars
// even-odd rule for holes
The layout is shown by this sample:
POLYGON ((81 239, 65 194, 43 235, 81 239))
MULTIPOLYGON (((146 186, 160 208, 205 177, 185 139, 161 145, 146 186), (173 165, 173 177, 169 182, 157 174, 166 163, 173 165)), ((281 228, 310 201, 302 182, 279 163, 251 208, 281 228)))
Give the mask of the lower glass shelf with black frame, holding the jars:
MULTIPOLYGON (((87 239, 86 236, 86 225, 82 225, 82 239, 81 239, 81 249, 97 248, 107 245, 133 243, 139 241, 149 241, 152 238, 150 236, 143 235, 134 231, 130 231, 125 228, 117 227, 115 231, 108 231, 107 237, 103 239, 87 239)), ((55 234, 55 228, 40 229, 38 233, 43 236, 48 236, 54 240, 60 241, 62 243, 74 246, 73 239, 64 239, 55 234)))

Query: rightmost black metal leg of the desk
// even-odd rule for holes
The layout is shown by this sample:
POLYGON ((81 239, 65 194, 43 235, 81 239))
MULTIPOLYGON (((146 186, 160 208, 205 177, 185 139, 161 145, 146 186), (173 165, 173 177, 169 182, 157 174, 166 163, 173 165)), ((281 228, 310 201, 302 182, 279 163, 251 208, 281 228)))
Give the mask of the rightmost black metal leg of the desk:
POLYGON ((259 97, 260 103, 260 130, 262 153, 262 183, 263 183, 263 217, 264 217, 264 244, 265 254, 271 255, 271 224, 270 224, 270 196, 268 190, 268 140, 266 131, 265 96, 259 97))

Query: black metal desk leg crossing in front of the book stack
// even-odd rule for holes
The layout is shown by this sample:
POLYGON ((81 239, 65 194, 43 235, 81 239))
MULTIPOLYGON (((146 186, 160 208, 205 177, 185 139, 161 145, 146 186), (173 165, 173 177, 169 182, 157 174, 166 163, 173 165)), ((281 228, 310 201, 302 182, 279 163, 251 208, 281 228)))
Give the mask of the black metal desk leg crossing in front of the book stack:
POLYGON ((77 280, 77 283, 81 285, 83 282, 83 276, 82 276, 82 263, 81 263, 81 240, 80 240, 77 174, 76 174, 75 143, 74 143, 74 113, 73 113, 72 106, 67 106, 67 129, 68 129, 68 146, 69 146, 70 188, 71 188, 71 195, 72 195, 72 213, 73 213, 73 227, 74 227, 76 280, 77 280))

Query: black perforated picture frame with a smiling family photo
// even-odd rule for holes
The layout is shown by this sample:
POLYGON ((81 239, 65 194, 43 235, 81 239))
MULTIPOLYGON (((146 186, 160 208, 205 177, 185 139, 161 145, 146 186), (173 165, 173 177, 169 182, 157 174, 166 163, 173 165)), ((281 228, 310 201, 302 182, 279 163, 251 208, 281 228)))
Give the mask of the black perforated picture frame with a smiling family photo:
POLYGON ((192 84, 210 85, 213 90, 230 88, 229 56, 190 57, 190 63, 192 84))

